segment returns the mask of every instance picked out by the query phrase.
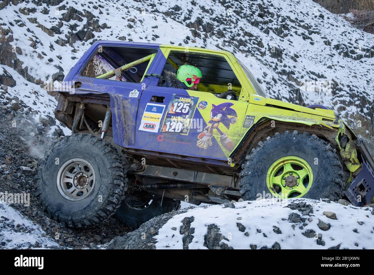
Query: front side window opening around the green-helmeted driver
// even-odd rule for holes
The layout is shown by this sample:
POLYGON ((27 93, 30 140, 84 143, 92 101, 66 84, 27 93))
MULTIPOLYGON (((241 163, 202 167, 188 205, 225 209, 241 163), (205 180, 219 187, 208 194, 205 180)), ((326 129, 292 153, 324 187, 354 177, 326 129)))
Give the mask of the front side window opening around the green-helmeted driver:
POLYGON ((193 65, 200 69, 202 79, 197 84, 197 91, 210 92, 218 96, 230 90, 233 93, 225 95, 224 98, 235 100, 239 97, 242 86, 229 62, 223 56, 218 55, 171 52, 163 68, 163 78, 159 86, 167 87, 165 73, 167 71, 177 73, 181 65, 193 65))

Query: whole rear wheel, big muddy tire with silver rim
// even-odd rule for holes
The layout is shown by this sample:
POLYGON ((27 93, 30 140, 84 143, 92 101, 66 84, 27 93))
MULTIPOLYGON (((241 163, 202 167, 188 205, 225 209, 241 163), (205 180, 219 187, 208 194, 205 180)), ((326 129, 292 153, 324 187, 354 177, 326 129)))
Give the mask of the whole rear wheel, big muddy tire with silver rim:
POLYGON ((127 189, 116 149, 90 134, 74 134, 56 143, 38 177, 45 211, 68 227, 89 227, 107 219, 127 189))

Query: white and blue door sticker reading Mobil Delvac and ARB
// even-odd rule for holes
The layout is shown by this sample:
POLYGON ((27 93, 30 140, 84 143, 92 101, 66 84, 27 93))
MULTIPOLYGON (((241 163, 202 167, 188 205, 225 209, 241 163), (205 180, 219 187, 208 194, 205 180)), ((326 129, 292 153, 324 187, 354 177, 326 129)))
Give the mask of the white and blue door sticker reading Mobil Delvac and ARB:
POLYGON ((147 106, 145 106, 145 110, 141 118, 139 130, 157 133, 160 128, 160 121, 164 109, 165 105, 147 103, 147 106))

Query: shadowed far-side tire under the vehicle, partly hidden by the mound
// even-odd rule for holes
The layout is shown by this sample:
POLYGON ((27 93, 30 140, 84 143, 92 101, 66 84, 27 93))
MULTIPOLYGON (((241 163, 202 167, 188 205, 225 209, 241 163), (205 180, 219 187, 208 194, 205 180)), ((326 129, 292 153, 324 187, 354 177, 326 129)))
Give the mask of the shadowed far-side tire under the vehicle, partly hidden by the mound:
POLYGON ((127 226, 136 229, 153 217, 178 210, 180 207, 180 201, 163 198, 162 205, 161 199, 157 199, 153 200, 152 203, 143 210, 133 210, 132 208, 129 208, 125 201, 123 201, 120 208, 116 211, 116 217, 122 220, 122 222, 127 226))

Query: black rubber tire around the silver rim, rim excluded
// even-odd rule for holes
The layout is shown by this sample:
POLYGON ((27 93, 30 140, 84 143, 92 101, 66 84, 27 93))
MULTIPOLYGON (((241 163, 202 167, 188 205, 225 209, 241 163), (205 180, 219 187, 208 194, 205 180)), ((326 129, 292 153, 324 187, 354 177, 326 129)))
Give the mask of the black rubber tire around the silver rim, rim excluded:
POLYGON ((68 227, 79 228, 99 224, 113 215, 128 186, 121 162, 117 150, 99 137, 64 137, 47 153, 38 172, 38 191, 46 213, 68 227), (64 198, 57 187, 61 165, 74 158, 88 161, 96 176, 91 193, 79 201, 64 198))

